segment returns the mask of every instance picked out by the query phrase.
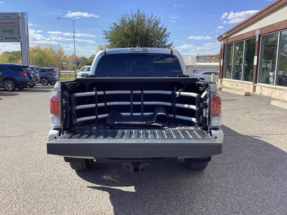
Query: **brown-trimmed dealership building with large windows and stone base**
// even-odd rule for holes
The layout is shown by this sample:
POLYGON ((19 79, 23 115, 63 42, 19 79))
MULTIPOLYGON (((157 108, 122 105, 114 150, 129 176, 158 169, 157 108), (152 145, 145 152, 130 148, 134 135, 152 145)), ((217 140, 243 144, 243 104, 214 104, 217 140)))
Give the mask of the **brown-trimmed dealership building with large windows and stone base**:
POLYGON ((277 0, 218 38, 218 85, 287 102, 287 0, 277 0))

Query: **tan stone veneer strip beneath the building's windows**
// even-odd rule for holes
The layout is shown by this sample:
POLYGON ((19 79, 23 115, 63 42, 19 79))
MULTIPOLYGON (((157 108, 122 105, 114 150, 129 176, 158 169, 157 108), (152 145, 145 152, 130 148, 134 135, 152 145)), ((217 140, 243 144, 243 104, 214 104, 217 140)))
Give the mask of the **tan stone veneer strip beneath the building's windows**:
POLYGON ((217 84, 219 86, 226 86, 236 90, 262 94, 276 100, 287 102, 287 87, 268 86, 260 84, 253 85, 252 83, 244 81, 236 81, 228 79, 218 79, 217 84))

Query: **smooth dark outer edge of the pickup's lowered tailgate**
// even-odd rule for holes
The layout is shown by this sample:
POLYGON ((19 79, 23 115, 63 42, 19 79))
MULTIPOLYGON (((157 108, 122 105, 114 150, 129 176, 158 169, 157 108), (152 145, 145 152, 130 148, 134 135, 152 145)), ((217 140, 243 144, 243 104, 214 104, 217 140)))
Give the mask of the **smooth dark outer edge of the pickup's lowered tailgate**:
POLYGON ((47 153, 61 156, 102 158, 203 157, 222 153, 222 143, 210 140, 102 140, 56 139, 47 143, 47 153), (161 143, 162 142, 162 143, 161 143))

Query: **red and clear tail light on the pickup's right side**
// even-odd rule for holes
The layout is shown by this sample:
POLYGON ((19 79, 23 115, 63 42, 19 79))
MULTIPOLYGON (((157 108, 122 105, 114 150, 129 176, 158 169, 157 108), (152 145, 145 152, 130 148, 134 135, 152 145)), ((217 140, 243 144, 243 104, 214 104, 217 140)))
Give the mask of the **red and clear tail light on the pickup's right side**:
POLYGON ((222 112, 222 99, 217 93, 211 94, 211 123, 210 127, 220 127, 221 126, 221 112, 222 112))

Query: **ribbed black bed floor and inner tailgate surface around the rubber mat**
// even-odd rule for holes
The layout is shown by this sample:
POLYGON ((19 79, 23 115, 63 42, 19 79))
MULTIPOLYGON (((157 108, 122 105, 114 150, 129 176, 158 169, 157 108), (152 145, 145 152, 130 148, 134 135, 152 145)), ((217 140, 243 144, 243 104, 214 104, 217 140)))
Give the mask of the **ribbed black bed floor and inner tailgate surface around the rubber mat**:
POLYGON ((161 140, 196 140, 210 139, 201 129, 194 128, 194 123, 169 118, 167 127, 114 129, 105 120, 81 122, 62 135, 60 139, 161 139, 161 140))

